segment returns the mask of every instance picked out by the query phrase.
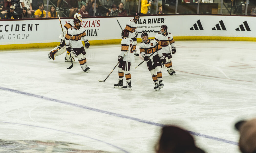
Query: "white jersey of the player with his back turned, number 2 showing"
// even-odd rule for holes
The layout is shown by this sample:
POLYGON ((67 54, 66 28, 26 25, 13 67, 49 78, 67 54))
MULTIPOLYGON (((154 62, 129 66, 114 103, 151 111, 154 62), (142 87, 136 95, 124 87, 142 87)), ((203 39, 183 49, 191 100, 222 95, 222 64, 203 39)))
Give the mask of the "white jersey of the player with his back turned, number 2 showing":
POLYGON ((134 53, 133 53, 133 40, 131 38, 124 38, 121 41, 122 49, 120 56, 124 56, 125 52, 128 50, 128 53, 124 56, 123 60, 133 63, 134 53))

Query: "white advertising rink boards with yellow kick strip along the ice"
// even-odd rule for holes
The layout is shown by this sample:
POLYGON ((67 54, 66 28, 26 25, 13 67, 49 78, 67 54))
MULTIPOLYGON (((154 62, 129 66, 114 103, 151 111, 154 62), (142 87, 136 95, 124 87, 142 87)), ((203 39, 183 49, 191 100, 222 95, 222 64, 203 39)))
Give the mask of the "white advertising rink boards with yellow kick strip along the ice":
MULTIPOLYGON (((84 18, 82 27, 90 44, 121 42, 121 28, 133 17, 84 18), (117 20, 121 27, 119 26, 117 20)), ((223 15, 154 15, 142 16, 137 23, 138 39, 147 32, 154 38, 161 25, 167 25, 175 40, 256 41, 255 17, 223 15)), ((71 19, 61 19, 62 26, 71 19)), ((2 20, 0 49, 52 47, 60 42, 59 20, 2 20)))

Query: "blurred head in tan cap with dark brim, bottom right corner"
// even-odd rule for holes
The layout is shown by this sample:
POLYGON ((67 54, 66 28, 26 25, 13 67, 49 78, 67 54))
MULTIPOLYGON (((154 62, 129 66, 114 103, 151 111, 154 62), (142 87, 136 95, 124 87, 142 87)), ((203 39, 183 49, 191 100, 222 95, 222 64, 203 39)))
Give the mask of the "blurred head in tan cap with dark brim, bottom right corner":
POLYGON ((256 118, 239 121, 235 127, 240 132, 239 148, 242 153, 256 152, 256 118))

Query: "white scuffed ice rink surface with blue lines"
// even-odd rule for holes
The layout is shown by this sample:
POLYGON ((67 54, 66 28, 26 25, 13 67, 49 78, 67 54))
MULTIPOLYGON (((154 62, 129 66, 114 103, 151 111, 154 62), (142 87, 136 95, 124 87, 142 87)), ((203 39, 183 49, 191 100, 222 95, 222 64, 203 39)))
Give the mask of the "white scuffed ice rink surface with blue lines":
MULTIPOLYGON (((256 43, 176 41, 175 76, 154 90, 146 63, 116 89, 121 45, 86 49, 89 73, 52 48, 0 51, 0 152, 154 153, 161 126, 190 131, 209 153, 238 153, 234 123, 256 116, 256 43)), ((137 46, 138 49, 138 46, 137 46)))

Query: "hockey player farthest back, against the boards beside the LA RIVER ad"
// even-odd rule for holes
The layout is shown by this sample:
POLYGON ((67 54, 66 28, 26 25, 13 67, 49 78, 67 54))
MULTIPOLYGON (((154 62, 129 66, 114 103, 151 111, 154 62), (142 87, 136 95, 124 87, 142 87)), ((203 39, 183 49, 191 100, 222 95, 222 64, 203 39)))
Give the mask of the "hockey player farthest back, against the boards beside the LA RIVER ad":
POLYGON ((125 29, 129 31, 129 37, 134 42, 133 53, 135 57, 139 57, 139 54, 136 53, 137 36, 138 36, 138 31, 136 30, 137 28, 136 24, 139 21, 139 19, 140 19, 140 13, 135 13, 133 19, 129 20, 125 27, 125 29))

